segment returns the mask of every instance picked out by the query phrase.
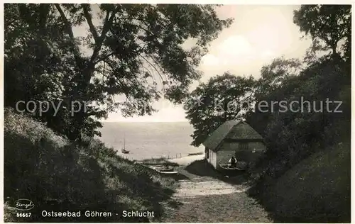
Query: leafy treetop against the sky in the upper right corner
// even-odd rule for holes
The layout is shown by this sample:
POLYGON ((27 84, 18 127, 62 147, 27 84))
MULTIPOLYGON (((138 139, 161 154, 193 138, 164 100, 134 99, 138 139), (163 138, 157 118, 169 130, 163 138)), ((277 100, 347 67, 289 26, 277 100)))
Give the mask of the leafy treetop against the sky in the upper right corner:
POLYGON ((324 43, 322 50, 332 50, 342 43, 344 57, 349 59, 351 50, 351 5, 302 5, 294 11, 293 21, 300 31, 310 34, 313 40, 324 43))

